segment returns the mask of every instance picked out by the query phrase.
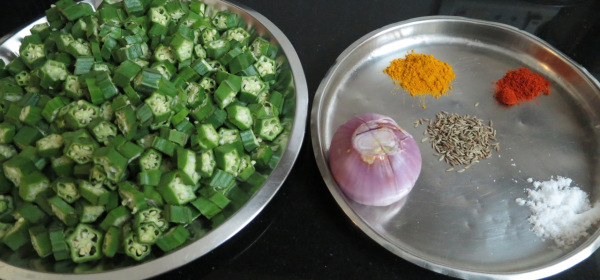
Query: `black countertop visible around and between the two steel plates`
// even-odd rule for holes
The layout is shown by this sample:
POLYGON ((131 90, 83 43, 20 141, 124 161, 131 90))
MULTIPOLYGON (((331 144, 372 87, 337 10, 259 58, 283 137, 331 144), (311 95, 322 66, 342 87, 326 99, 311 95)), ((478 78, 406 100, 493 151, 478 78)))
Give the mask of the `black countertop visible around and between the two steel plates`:
MULTIPOLYGON (((40 17, 50 0, 0 1, 0 34, 40 17)), ((436 14, 512 24, 600 73, 597 1, 246 0, 294 45, 310 102, 337 56, 366 33, 436 14)), ((310 117, 310 107, 309 107, 310 117)), ((310 122, 310 120, 308 120, 310 122)), ((334 201, 316 166, 307 126, 298 160, 274 199, 209 254, 156 279, 451 279, 407 262, 369 239, 334 201)), ((549 279, 600 278, 600 252, 549 279)))

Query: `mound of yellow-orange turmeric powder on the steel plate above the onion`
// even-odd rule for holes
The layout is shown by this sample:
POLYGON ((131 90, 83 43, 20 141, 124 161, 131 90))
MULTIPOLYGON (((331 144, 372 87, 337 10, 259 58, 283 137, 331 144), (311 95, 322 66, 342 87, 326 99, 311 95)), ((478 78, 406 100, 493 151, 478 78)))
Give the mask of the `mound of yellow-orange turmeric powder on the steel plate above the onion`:
POLYGON ((450 64, 433 55, 414 52, 404 59, 394 59, 383 71, 411 96, 430 94, 439 98, 452 89, 450 82, 455 77, 450 64))

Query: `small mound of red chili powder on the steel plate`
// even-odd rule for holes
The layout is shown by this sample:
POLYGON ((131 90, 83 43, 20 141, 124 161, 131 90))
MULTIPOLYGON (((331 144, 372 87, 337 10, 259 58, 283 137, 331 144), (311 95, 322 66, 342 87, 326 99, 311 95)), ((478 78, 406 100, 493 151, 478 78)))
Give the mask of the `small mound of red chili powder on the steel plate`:
POLYGON ((529 101, 542 93, 550 94, 550 82, 527 68, 519 68, 508 71, 496 82, 494 97, 498 102, 512 106, 522 101, 529 101))

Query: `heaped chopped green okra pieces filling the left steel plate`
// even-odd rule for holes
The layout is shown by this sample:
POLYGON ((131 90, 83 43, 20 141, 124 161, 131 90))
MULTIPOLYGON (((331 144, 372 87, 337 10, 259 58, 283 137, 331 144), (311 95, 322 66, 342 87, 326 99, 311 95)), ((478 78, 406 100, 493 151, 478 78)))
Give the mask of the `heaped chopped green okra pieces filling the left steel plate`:
POLYGON ((60 0, 0 65, 3 258, 143 260, 264 184, 289 139, 292 74, 213 8, 60 0))

